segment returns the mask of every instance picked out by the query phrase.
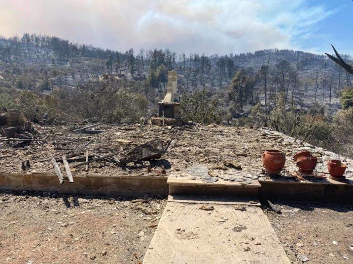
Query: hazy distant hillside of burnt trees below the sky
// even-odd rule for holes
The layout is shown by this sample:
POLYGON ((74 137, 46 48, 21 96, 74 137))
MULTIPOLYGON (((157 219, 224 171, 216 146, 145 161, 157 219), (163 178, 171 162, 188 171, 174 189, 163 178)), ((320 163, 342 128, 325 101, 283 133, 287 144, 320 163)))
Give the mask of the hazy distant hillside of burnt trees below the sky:
MULTIPOLYGON (((351 59, 348 55, 342 57, 348 61, 351 59)), ((322 83, 315 84, 317 86, 315 89, 318 90, 328 88, 322 87, 327 86, 328 80, 325 79, 325 75, 330 75, 330 79, 337 82, 332 84, 338 86, 336 87, 337 91, 340 91, 343 86, 351 86, 350 76, 328 60, 326 56, 301 51, 272 49, 255 53, 206 56, 197 53, 177 54, 170 50, 142 49, 136 53, 133 49, 127 52, 103 50, 91 45, 72 43, 47 35, 25 33, 21 37, 0 37, 0 61, 8 66, 18 63, 31 65, 44 62, 59 68, 65 65, 72 68, 70 66, 73 66, 74 63, 82 62, 75 59, 94 61, 86 63, 81 69, 76 67, 75 72, 72 72, 73 69, 63 68, 63 72, 59 72, 59 75, 79 74, 81 80, 86 77, 97 77, 97 75, 104 73, 116 73, 120 76, 124 74, 140 80, 143 78, 138 77, 140 75, 145 75, 145 77, 152 75, 149 78, 149 84, 156 89, 165 85, 165 71, 174 69, 183 75, 185 79, 183 85, 186 86, 184 90, 188 90, 189 87, 196 89, 207 86, 210 88, 227 86, 239 69, 244 69, 250 75, 256 75, 256 73, 260 73, 256 71, 259 71, 262 66, 270 67, 282 63, 282 66, 279 67, 285 69, 278 70, 277 67, 277 69, 273 69, 274 72, 269 69, 268 74, 272 77, 272 86, 278 84, 284 89, 283 86, 287 85, 284 83, 286 82, 284 79, 293 82, 295 79, 293 74, 302 75, 315 81, 320 79, 322 83), (68 73, 69 71, 71 72, 68 73), (312 76, 309 76, 310 73, 312 76), (278 78, 281 78, 281 81, 275 83, 278 78)), ((3 66, 3 69, 4 67, 6 66, 3 66)))

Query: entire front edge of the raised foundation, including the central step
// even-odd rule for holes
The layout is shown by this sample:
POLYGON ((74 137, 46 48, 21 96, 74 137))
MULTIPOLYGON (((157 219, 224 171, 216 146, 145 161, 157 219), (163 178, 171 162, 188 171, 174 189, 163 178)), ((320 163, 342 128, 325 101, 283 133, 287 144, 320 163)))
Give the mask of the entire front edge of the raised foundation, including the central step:
POLYGON ((88 175, 74 177, 74 183, 65 179, 60 185, 56 174, 0 173, 0 190, 128 196, 207 195, 353 203, 351 181, 330 181, 256 181, 246 185, 236 182, 205 183, 170 177, 88 175))

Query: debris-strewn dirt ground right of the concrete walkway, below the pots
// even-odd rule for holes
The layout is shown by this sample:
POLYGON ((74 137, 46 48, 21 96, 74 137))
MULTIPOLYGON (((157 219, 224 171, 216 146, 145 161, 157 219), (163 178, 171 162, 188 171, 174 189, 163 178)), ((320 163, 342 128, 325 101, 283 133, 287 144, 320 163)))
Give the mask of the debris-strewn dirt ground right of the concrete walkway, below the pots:
POLYGON ((353 262, 352 206, 288 201, 273 204, 281 213, 265 212, 292 262, 301 263, 306 258, 305 263, 353 262))

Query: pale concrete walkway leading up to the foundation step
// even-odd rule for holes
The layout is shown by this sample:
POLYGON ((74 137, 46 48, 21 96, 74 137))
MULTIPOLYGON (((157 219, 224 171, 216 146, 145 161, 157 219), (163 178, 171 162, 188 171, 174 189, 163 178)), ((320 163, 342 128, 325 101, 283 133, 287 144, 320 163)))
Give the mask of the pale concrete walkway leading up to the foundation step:
POLYGON ((290 263, 259 205, 169 196, 144 263, 290 263))

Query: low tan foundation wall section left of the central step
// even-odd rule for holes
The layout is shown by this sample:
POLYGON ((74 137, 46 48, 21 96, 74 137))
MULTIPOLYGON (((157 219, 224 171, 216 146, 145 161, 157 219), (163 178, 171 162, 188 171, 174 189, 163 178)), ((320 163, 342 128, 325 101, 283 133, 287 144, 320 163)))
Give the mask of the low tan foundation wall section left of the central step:
POLYGON ((56 174, 0 173, 0 190, 41 191, 93 195, 167 195, 167 177, 101 176, 74 177, 62 185, 56 174))

